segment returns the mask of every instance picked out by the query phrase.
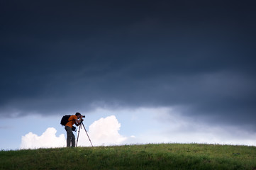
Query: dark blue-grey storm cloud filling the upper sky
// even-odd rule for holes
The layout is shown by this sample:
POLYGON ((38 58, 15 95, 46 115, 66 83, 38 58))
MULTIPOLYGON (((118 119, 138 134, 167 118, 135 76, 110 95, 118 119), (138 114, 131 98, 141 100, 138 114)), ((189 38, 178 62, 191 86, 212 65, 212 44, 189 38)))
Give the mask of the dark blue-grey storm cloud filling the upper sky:
POLYGON ((172 106, 253 123, 256 15, 241 3, 1 2, 0 113, 172 106))

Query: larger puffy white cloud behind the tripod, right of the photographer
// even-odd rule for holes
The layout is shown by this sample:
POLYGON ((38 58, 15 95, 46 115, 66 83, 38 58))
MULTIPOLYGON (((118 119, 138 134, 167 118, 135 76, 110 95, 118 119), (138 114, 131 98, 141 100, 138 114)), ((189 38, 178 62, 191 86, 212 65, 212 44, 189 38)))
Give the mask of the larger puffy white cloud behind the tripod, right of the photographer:
MULTIPOLYGON (((123 137, 118 133, 121 124, 118 123, 116 116, 111 115, 106 118, 100 118, 94 121, 89 126, 88 135, 91 139, 92 145, 120 145, 124 142, 127 137, 123 137)), ((77 130, 78 131, 78 130, 77 130)), ((91 146, 89 143, 89 138, 82 127, 79 133, 78 146, 91 146)))

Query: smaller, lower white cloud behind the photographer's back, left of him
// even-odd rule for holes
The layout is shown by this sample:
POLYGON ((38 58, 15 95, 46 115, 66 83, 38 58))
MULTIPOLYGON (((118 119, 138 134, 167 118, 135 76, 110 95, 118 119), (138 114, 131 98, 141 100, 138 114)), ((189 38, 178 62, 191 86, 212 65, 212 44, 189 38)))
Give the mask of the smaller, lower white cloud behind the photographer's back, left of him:
POLYGON ((48 128, 42 135, 38 136, 29 132, 25 136, 21 137, 21 149, 36 149, 36 148, 48 148, 48 147, 65 147, 66 139, 62 134, 57 137, 57 130, 55 128, 48 128))

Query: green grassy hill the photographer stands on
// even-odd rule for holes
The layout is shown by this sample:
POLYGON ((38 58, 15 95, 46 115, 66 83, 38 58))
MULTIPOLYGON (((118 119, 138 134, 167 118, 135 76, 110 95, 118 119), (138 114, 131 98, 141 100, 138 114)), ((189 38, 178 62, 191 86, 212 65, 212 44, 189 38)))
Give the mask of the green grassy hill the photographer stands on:
POLYGON ((256 147, 149 144, 0 152, 0 169, 250 169, 256 147))

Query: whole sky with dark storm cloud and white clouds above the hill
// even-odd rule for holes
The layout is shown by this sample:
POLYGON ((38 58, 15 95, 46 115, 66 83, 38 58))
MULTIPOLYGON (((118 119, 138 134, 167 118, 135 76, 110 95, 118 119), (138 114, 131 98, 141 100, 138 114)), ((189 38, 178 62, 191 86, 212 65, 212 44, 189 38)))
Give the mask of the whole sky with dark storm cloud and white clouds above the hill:
POLYGON ((0 20, 0 149, 65 147, 76 112, 94 145, 256 146, 254 1, 11 0, 0 20))

